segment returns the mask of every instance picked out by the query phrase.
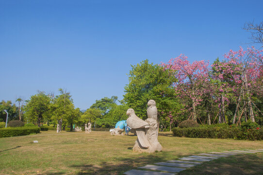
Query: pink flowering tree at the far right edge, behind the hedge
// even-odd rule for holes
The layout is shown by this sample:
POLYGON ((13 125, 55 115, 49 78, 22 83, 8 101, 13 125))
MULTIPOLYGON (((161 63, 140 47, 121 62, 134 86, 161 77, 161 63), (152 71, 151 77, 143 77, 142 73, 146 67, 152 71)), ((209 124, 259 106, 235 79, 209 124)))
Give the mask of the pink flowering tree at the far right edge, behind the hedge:
POLYGON ((252 122, 255 122, 252 96, 255 93, 259 95, 263 92, 263 88, 260 85, 261 82, 259 82, 259 80, 262 80, 263 75, 262 52, 263 50, 258 51, 253 47, 244 51, 240 47, 239 51, 234 52, 230 50, 229 53, 226 53, 223 62, 212 65, 215 72, 215 80, 220 82, 220 86, 218 86, 221 93, 219 105, 223 106, 224 100, 228 100, 225 94, 230 91, 237 97, 233 123, 236 122, 237 111, 241 105, 243 105, 243 108, 240 108, 241 115, 238 114, 239 120, 237 123, 240 123, 242 114, 244 114, 246 121, 248 116, 252 122))

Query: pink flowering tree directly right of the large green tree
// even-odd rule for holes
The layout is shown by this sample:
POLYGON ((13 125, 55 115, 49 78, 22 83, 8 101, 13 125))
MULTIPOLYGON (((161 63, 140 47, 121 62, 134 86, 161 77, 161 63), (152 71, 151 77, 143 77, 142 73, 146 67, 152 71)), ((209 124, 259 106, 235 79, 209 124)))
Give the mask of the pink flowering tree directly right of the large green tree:
MULTIPOLYGON (((181 54, 170 59, 167 63, 161 63, 164 69, 176 70, 178 79, 174 83, 174 88, 179 92, 181 99, 187 100, 191 106, 193 120, 197 121, 196 106, 200 105, 203 94, 203 83, 209 81, 208 65, 206 61, 194 61, 192 64, 187 60, 187 56, 181 54)), ((185 104, 185 107, 187 104, 185 104)))

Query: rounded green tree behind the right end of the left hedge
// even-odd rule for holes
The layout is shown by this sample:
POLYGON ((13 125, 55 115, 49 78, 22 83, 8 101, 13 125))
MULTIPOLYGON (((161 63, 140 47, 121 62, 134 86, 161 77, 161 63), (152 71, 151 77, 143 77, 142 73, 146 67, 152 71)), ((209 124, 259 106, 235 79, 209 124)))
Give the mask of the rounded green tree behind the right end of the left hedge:
POLYGON ((25 120, 29 122, 37 122, 40 127, 43 118, 49 115, 50 96, 43 91, 38 91, 32 95, 25 106, 25 120))

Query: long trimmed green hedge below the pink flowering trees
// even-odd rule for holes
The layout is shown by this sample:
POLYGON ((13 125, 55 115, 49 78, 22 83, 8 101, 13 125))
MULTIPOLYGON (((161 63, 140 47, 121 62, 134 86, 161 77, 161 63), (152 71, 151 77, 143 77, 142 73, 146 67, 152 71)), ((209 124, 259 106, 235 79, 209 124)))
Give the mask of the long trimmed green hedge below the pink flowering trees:
POLYGON ((176 137, 263 140, 263 128, 244 129, 241 127, 190 127, 173 128, 176 137))

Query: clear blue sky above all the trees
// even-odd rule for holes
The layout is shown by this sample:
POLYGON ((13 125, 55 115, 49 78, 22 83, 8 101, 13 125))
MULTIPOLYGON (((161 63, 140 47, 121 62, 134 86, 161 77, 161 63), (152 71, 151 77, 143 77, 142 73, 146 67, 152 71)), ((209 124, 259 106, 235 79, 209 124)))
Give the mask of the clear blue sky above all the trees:
POLYGON ((58 88, 81 109, 121 100, 131 65, 213 62, 247 47, 253 20, 263 0, 0 0, 0 100, 58 88))

